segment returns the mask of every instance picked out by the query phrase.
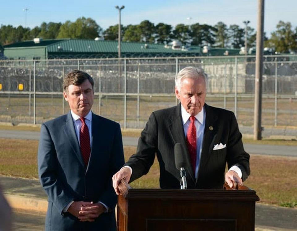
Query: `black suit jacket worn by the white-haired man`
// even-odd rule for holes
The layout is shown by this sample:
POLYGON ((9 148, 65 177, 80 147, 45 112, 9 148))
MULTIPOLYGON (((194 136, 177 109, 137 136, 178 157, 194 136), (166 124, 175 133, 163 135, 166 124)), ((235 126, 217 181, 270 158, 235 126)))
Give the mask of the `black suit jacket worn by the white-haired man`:
POLYGON ((149 117, 139 138, 137 153, 125 164, 133 170, 130 181, 149 171, 156 153, 160 165, 160 187, 180 188, 179 170, 174 161, 174 145, 178 142, 184 153, 187 153, 185 170, 188 188, 222 189, 226 162, 228 168, 237 165, 242 171, 242 179, 245 180, 250 173, 249 155, 243 149, 242 135, 234 113, 206 104, 204 110, 206 121, 197 179, 190 164, 179 104, 155 111, 149 117), (226 148, 213 150, 214 145, 219 143, 226 144, 226 148))

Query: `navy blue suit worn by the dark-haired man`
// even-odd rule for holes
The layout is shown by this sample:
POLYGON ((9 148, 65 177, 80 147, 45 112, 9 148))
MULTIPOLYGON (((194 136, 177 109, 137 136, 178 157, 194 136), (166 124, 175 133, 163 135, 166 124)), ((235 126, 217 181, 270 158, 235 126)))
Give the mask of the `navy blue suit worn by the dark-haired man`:
POLYGON ((118 123, 92 113, 92 147, 87 168, 75 134, 71 113, 41 125, 38 173, 46 194, 45 230, 115 230, 117 196, 112 176, 124 163, 118 123), (80 222, 63 209, 71 201, 103 202, 110 212, 95 222, 80 222))

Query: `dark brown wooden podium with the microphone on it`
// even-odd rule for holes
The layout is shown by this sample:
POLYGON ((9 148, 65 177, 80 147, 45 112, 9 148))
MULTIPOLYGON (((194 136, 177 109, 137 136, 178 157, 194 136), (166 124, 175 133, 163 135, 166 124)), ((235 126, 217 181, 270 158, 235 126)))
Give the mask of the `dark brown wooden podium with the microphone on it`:
MULTIPOLYGON (((126 185, 126 187, 129 187, 126 185)), ((118 231, 254 230, 254 190, 128 189, 118 197, 118 231)))

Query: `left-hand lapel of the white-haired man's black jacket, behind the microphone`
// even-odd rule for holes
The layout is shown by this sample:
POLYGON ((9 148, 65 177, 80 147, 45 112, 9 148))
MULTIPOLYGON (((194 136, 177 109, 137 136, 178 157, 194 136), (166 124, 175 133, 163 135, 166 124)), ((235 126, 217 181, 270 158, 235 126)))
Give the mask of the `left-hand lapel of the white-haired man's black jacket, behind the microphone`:
POLYGON ((182 122, 181 104, 180 103, 178 106, 176 106, 174 113, 170 117, 169 129, 171 131, 174 142, 180 143, 183 148, 183 152, 186 154, 185 155, 185 158, 186 158, 185 170, 187 172, 187 175, 191 176, 192 181, 195 182, 194 172, 193 172, 193 169, 191 166, 190 155, 189 155, 188 148, 187 148, 186 137, 185 137, 185 134, 183 131, 183 122, 182 122))

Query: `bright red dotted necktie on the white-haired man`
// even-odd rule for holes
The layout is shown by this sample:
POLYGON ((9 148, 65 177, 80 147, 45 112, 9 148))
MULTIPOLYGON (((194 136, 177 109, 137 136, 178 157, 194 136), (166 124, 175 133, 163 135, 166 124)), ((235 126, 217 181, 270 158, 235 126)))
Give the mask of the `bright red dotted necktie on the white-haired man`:
POLYGON ((191 123, 187 131, 187 145, 191 159, 191 165, 195 173, 196 170, 196 156, 197 156, 197 147, 196 147, 196 127, 195 127, 195 116, 190 117, 191 123))

